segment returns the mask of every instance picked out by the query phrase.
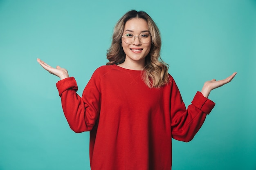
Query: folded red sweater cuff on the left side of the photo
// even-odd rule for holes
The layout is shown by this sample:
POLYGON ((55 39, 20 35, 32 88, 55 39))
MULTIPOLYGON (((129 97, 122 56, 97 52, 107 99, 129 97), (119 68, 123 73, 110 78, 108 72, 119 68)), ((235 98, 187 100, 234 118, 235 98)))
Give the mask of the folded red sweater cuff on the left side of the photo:
POLYGON ((58 94, 61 97, 62 93, 66 91, 67 89, 72 89, 74 91, 78 90, 76 80, 74 77, 68 77, 65 79, 62 79, 56 83, 58 94))

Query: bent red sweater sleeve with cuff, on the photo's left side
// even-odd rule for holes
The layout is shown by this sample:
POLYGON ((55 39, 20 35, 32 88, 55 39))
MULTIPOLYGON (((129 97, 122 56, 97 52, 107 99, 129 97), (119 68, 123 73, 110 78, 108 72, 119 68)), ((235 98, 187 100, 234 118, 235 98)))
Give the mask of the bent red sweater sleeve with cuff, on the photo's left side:
POLYGON ((64 115, 76 133, 92 130, 99 115, 99 84, 94 77, 88 82, 82 97, 76 93, 78 88, 74 77, 60 80, 56 84, 64 115))

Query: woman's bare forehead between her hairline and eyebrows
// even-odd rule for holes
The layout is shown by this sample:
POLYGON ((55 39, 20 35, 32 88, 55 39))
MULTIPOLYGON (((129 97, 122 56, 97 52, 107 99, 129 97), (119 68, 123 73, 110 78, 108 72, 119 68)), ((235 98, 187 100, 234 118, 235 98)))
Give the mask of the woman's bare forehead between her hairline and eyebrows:
POLYGON ((124 31, 141 32, 148 30, 148 23, 142 18, 132 18, 124 25, 124 31))

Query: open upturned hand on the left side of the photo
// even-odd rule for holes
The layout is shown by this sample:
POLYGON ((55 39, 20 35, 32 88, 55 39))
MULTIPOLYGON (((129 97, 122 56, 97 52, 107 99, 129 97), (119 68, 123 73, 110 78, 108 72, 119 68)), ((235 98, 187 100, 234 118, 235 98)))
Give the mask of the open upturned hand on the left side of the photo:
POLYGON ((42 60, 40 60, 39 58, 36 59, 36 61, 43 68, 45 68, 45 70, 47 70, 49 73, 56 75, 56 76, 60 77, 61 79, 65 79, 65 78, 69 77, 67 70, 65 68, 61 68, 60 66, 56 66, 56 68, 53 68, 53 67, 49 66, 48 64, 46 64, 45 62, 43 62, 42 60))

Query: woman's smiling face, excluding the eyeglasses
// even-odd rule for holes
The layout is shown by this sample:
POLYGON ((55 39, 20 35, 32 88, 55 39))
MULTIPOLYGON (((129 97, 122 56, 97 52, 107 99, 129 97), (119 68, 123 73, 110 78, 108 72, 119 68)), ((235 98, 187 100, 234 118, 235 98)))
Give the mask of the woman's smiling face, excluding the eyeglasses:
MULTIPOLYGON (((144 19, 132 18, 126 22, 124 26, 123 36, 126 34, 139 36, 141 33, 150 34, 148 30, 148 23, 144 19)), ((139 38, 136 37, 131 44, 127 44, 126 42, 124 42, 124 38, 122 38, 122 47, 124 49, 124 53, 126 54, 125 62, 143 64, 144 66, 145 57, 150 51, 151 41, 152 40, 150 37, 150 40, 147 43, 141 43, 139 38)))

